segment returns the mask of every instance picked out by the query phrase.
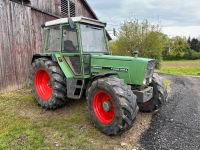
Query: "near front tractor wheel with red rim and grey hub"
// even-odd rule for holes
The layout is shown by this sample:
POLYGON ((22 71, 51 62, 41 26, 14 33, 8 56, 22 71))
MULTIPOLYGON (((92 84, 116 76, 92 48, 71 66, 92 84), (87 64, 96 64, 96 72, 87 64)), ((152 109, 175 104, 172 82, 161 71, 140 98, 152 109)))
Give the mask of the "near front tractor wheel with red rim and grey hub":
POLYGON ((87 100, 93 123, 107 135, 130 129, 139 110, 131 87, 116 77, 93 81, 87 90, 87 100))

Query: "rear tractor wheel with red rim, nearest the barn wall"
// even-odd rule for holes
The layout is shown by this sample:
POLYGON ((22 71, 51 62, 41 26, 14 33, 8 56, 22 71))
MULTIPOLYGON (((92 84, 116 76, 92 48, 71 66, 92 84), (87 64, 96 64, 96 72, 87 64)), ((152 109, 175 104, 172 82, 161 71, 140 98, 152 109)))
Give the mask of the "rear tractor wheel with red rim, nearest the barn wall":
POLYGON ((60 67, 47 58, 32 63, 30 82, 36 102, 45 109, 56 109, 67 102, 66 82, 60 67))

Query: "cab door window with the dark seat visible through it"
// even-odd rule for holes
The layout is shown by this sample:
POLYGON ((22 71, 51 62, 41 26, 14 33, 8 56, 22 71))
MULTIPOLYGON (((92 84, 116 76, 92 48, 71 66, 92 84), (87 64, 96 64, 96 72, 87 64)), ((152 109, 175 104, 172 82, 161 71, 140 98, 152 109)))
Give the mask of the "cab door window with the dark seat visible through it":
POLYGON ((78 51, 76 30, 72 30, 69 26, 63 27, 62 51, 72 53, 78 51))

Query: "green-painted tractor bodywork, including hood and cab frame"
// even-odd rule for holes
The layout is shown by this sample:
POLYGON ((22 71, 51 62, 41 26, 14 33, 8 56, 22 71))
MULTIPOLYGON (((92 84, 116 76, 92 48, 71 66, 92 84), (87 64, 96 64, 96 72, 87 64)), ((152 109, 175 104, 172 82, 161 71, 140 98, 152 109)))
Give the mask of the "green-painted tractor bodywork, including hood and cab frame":
MULTIPOLYGON (((60 27, 60 45, 57 50, 49 51, 49 31, 51 30, 51 26, 46 27, 45 30, 45 50, 46 53, 55 54, 58 64, 63 70, 65 76, 67 78, 79 78, 79 79, 85 79, 85 78, 91 78, 92 76, 96 76, 100 73, 104 72, 110 72, 115 71, 117 72, 118 76, 121 79, 124 79, 127 84, 134 84, 134 85, 143 85, 144 79, 147 72, 147 65, 149 61, 152 59, 147 58, 139 58, 139 57, 127 57, 127 56, 112 56, 108 55, 110 54, 109 48, 108 48, 108 41, 106 38, 106 30, 103 29, 103 34, 106 41, 106 47, 108 49, 107 52, 83 52, 83 44, 82 43, 82 29, 80 27, 81 22, 76 22, 75 31, 77 33, 77 42, 78 47, 77 51, 74 52, 62 52, 62 41, 63 41, 63 30, 66 26, 68 26, 67 23, 65 24, 58 24, 57 26, 60 27), (84 55, 90 55, 90 74, 85 73, 85 64, 84 64, 84 55), (71 56, 79 56, 80 57, 80 73, 76 74, 74 72, 74 69, 72 68, 73 65, 68 64, 66 61, 66 57, 71 56), (63 58, 63 61, 59 61, 59 58, 63 58)), ((91 26, 92 24, 90 24, 91 26)), ((95 27, 95 26, 94 26, 95 27)), ((98 27, 99 28, 99 27, 98 27)), ((95 29, 95 28, 94 28, 95 29)), ((100 28, 99 28, 100 29, 100 28)), ((97 29, 98 30, 98 29, 97 29)), ((90 45, 91 46, 91 45, 90 45)), ((76 64, 77 65, 77 64, 76 64)))

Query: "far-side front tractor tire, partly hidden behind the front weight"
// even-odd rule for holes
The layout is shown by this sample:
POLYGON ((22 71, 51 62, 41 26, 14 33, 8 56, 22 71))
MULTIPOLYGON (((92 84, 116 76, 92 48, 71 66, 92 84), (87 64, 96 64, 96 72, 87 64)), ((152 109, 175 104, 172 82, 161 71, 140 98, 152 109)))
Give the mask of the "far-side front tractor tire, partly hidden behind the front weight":
POLYGON ((159 110, 167 101, 167 90, 158 74, 153 75, 150 86, 153 87, 153 98, 145 103, 138 104, 142 112, 159 110))

